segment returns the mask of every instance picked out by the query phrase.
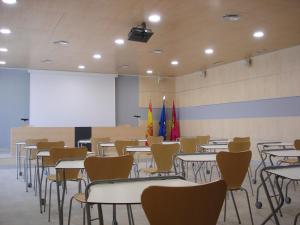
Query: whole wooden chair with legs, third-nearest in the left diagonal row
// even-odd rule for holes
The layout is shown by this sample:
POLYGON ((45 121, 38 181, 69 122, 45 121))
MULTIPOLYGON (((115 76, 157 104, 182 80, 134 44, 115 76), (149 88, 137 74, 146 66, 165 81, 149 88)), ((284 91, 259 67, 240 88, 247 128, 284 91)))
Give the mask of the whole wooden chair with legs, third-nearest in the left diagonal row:
MULTIPOLYGON (((52 149, 52 148, 63 148, 64 146, 65 146, 65 142, 63 142, 63 141, 38 142, 36 145, 37 153, 40 151, 43 151, 43 150, 50 151, 50 149, 52 149)), ((41 181, 42 181, 45 168, 48 168, 48 173, 49 173, 50 172, 49 167, 54 167, 55 162, 53 162, 51 157, 43 157, 41 166, 42 166, 41 181)), ((46 179, 46 182, 45 182, 45 194, 44 194, 45 202, 46 202, 46 197, 47 197, 47 181, 48 181, 48 179, 46 179)), ((46 210, 46 204, 44 204, 44 212, 45 212, 45 210, 46 210)))

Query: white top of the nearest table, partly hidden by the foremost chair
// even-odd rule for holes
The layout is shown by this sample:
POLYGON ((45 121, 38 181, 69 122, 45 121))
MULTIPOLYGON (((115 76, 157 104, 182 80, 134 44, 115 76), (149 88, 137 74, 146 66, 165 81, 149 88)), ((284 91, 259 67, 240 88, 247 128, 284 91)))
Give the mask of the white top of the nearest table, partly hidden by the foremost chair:
POLYGON ((89 203, 140 204, 143 191, 150 186, 183 187, 198 185, 181 179, 147 180, 95 184, 91 187, 89 203))

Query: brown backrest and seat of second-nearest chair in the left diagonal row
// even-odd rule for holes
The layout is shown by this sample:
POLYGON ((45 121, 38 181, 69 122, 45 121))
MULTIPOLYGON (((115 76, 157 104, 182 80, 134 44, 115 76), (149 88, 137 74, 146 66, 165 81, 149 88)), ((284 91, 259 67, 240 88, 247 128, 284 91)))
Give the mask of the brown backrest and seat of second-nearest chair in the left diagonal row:
MULTIPOLYGON (((51 148, 50 160, 57 164, 60 160, 85 159, 87 148, 51 148)), ((65 179, 75 180, 78 178, 79 169, 65 169, 65 179)), ((58 173, 59 179, 63 178, 62 171, 58 173)))

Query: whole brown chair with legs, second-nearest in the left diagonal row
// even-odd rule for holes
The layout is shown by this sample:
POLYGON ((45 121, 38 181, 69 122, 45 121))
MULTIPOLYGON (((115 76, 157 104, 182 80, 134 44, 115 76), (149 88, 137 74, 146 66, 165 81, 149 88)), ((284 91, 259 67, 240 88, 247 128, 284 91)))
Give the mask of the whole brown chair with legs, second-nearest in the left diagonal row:
MULTIPOLYGON (((87 154, 87 148, 52 148, 50 149, 50 160, 57 164, 61 160, 76 160, 85 159, 87 154)), ((65 169, 64 172, 58 171, 56 175, 48 175, 47 179, 50 181, 49 192, 49 214, 48 221, 50 222, 51 216, 51 192, 52 184, 57 181, 78 181, 79 190, 81 189, 81 181, 85 180, 79 175, 80 169, 65 169), (57 180, 58 179, 58 180, 57 180)))

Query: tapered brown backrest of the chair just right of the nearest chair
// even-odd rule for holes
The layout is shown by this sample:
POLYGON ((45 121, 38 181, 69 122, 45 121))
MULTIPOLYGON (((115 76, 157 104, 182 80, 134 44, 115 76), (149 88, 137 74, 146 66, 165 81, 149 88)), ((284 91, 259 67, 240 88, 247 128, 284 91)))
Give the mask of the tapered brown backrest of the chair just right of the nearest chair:
POLYGON ((250 165, 252 152, 219 152, 217 163, 228 189, 239 189, 250 165))

